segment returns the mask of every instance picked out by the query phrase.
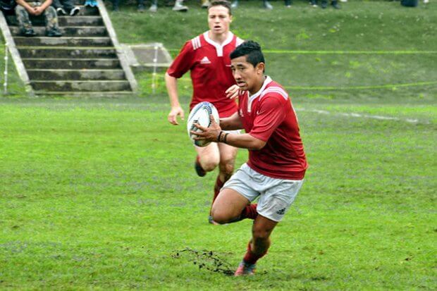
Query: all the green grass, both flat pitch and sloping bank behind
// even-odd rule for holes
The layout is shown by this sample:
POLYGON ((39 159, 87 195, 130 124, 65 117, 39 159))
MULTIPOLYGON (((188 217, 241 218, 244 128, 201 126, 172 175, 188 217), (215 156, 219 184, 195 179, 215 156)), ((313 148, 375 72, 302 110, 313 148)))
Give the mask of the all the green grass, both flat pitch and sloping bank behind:
MULTIPOLYGON (((206 30, 196 20, 204 11, 189 4, 183 15, 122 7, 111 17, 121 42, 161 39, 177 50, 206 30), (186 23, 164 26, 175 18, 186 23)), ((141 73, 139 98, 29 99, 17 81, 0 99, 0 290, 437 289, 437 54, 421 53, 437 51, 437 6, 352 2, 322 11, 297 2, 285 11, 277 1, 270 13, 292 36, 281 44, 278 21, 271 33, 253 26, 269 13, 257 5, 242 2, 234 31, 269 51, 268 73, 293 96, 310 164, 258 274, 199 268, 211 266, 213 252, 233 270, 251 223, 207 223, 215 173, 195 175, 184 126, 166 122, 162 80, 151 96, 141 73), (386 34, 370 28, 381 13, 386 34), (329 32, 337 22, 340 31, 329 32), (296 39, 304 26, 309 39, 296 39), (355 39, 357 31, 367 38, 355 39)), ((190 82, 180 83, 187 108, 190 82)), ((240 150, 237 166, 246 159, 240 150)))

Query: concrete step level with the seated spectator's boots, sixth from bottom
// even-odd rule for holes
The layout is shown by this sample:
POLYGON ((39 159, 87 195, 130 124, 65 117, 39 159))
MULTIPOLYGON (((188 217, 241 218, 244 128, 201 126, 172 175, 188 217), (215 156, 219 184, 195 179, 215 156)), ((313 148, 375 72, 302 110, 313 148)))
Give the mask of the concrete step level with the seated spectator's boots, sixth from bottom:
MULTIPOLYGON (((20 28, 18 26, 10 26, 9 29, 13 36, 20 36, 20 28)), ((33 30, 37 36, 44 37, 46 35, 46 27, 34 26, 33 30)), ((67 26, 59 27, 63 37, 106 37, 108 32, 104 26, 67 26)))

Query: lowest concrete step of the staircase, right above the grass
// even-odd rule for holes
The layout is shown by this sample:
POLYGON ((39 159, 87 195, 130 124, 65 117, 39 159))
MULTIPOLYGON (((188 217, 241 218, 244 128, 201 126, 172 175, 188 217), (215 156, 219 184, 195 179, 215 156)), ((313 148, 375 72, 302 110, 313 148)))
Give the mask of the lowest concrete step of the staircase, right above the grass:
POLYGON ((130 91, 130 85, 127 80, 123 81, 30 81, 35 91, 50 92, 108 92, 108 91, 130 91))

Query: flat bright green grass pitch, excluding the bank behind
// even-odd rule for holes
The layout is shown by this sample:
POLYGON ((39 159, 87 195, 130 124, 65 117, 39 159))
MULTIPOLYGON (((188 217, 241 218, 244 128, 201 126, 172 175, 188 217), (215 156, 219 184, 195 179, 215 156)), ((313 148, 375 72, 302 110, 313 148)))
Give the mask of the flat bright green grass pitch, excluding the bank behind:
POLYGON ((0 287, 435 289, 436 109, 295 103, 306 182, 260 274, 234 279, 172 258, 207 249, 234 267, 250 222, 208 225, 215 175, 197 178, 165 102, 4 101, 0 287))

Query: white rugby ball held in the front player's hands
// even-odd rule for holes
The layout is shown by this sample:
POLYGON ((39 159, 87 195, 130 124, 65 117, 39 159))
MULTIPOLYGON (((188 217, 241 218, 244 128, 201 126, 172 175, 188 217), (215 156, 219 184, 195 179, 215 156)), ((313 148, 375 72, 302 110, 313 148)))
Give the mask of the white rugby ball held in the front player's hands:
POLYGON ((190 140, 192 140, 193 144, 197 145, 197 147, 206 147, 208 144, 210 144, 210 142, 205 142, 204 140, 193 140, 195 137, 197 137, 197 135, 192 134, 190 130, 202 132, 202 130, 199 130, 199 128, 195 127, 195 123, 199 123, 199 125, 209 128, 211 126, 211 119, 209 118, 211 114, 214 116, 216 123, 219 124, 219 111, 217 111, 216 107, 209 102, 201 102, 192 109, 190 115, 188 116, 188 137, 190 137, 190 140))

